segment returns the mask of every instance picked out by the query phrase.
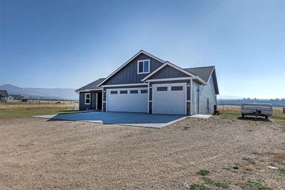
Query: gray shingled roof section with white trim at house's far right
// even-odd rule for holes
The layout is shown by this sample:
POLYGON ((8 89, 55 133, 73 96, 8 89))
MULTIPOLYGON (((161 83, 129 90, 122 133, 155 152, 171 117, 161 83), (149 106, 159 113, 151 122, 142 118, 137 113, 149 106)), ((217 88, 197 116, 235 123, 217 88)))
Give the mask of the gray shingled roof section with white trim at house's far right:
POLYGON ((201 66, 201 67, 195 67, 195 68, 188 68, 184 70, 190 71, 192 74, 199 76, 201 79, 203 79, 207 83, 209 82, 209 79, 212 76, 213 81, 214 81, 214 89, 216 91, 216 94, 219 94, 219 86, 218 86, 217 75, 216 75, 216 70, 214 66, 201 66))

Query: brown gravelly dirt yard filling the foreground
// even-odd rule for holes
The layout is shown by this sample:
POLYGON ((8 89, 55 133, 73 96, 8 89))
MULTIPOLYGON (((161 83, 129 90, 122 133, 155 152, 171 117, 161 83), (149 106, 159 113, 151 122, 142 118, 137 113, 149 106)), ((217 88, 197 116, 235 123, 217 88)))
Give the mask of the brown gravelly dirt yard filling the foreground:
POLYGON ((271 121, 146 129, 26 117, 1 119, 0 131, 0 189, 285 188, 285 126, 271 121))

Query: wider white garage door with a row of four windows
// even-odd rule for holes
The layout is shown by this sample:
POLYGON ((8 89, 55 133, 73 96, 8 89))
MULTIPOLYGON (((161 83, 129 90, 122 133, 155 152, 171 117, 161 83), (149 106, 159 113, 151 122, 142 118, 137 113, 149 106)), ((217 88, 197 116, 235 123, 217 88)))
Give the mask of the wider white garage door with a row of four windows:
POLYGON ((147 89, 107 89, 107 111, 147 113, 147 89))

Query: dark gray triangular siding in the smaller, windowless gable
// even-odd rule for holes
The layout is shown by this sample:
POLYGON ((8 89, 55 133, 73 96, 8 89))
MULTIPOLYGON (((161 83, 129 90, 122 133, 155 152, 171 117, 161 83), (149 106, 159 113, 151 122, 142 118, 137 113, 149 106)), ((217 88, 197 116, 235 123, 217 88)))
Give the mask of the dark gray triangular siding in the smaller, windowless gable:
POLYGON ((176 77, 189 77, 189 75, 182 73, 181 71, 178 71, 177 69, 171 67, 171 66, 165 66, 160 71, 157 71, 157 73, 150 76, 149 79, 165 79, 165 78, 176 78, 176 77))

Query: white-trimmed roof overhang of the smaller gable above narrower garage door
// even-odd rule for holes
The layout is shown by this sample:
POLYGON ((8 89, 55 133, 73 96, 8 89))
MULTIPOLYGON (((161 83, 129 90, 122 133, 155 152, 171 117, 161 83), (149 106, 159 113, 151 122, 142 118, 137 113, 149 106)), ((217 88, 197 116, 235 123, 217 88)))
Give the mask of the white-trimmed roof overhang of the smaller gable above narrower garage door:
MULTIPOLYGON (((158 71, 160 71, 162 68, 164 68, 165 66, 171 66, 174 69, 177 69, 178 71, 181 71, 184 74, 187 74, 188 76, 190 76, 191 79, 197 79, 198 81, 200 81, 202 84, 207 84, 204 80, 202 80, 199 76, 196 76, 195 74, 192 74, 188 71, 185 71, 184 69, 180 68, 179 66, 176 66, 175 64, 170 63, 169 61, 166 61, 165 64, 163 64, 162 66, 158 67, 157 69, 155 69, 155 71, 152 71, 152 73, 148 74, 147 76, 145 76, 145 78, 143 78, 141 81, 151 81, 150 76, 154 75, 155 73, 157 73, 158 71), (149 79, 149 80, 147 80, 149 79)), ((185 78, 185 77, 177 77, 177 79, 179 78, 185 78)), ((187 78, 187 77, 186 77, 187 78)), ((176 79, 176 78, 174 78, 176 79)), ((153 80, 153 79, 152 79, 153 80)), ((165 79, 164 79, 165 81, 165 79)))

